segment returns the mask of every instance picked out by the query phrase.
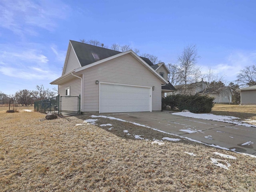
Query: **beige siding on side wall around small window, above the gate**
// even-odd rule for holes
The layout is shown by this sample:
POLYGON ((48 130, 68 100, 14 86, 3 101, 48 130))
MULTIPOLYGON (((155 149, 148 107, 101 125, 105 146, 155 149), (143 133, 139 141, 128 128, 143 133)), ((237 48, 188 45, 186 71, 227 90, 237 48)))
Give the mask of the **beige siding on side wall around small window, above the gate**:
POLYGON ((65 96, 65 89, 70 87, 70 96, 79 96, 81 94, 81 79, 76 78, 65 84, 58 86, 60 96, 65 96))

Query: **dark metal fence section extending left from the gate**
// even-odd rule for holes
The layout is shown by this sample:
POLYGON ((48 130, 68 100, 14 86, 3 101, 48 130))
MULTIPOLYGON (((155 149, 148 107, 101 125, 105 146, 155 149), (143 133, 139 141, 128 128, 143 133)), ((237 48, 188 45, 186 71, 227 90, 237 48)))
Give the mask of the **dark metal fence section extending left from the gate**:
POLYGON ((55 112, 60 114, 59 101, 60 101, 60 95, 50 99, 36 101, 34 102, 34 111, 40 112, 40 113, 55 112))

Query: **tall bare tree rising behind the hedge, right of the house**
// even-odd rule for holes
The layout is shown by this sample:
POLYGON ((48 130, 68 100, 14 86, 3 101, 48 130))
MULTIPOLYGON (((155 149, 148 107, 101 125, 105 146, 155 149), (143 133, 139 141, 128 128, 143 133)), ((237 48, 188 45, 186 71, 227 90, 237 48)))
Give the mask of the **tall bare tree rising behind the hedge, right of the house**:
POLYGON ((200 56, 197 53, 196 45, 188 45, 184 48, 181 55, 178 56, 180 75, 182 77, 182 83, 186 84, 195 82, 195 76, 198 76, 200 69, 196 66, 197 59, 200 56))

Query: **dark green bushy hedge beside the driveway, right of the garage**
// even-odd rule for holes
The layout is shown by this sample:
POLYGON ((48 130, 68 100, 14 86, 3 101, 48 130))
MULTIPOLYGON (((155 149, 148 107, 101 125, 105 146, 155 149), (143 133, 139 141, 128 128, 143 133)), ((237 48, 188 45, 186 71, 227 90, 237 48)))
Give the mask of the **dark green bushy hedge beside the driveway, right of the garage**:
POLYGON ((180 111, 186 109, 192 113, 209 113, 214 106, 214 97, 208 95, 170 95, 162 98, 162 109, 170 106, 180 111))

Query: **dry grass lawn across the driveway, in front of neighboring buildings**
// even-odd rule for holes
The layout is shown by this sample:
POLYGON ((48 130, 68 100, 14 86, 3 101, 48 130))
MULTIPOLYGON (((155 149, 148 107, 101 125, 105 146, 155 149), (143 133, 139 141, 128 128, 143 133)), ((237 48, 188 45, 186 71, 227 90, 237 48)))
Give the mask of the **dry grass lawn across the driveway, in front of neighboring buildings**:
POLYGON ((214 104, 212 114, 234 116, 241 120, 256 120, 256 105, 228 105, 228 104, 214 104))

